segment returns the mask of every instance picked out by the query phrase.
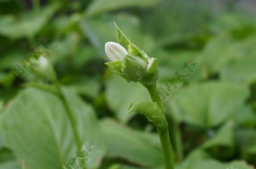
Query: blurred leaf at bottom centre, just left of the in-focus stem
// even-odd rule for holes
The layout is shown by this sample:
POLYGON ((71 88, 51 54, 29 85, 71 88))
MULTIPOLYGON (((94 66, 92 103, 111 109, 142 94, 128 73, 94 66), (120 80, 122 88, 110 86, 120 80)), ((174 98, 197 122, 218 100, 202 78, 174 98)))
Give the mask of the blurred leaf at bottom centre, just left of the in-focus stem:
POLYGON ((122 158, 146 168, 162 166, 163 158, 157 134, 137 132, 117 124, 113 120, 101 121, 107 142, 107 157, 122 158))

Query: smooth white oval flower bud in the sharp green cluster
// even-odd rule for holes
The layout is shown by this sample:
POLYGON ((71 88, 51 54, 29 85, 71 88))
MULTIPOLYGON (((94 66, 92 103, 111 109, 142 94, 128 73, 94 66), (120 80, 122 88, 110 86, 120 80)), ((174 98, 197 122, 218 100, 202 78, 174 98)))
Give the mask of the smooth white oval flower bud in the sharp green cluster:
POLYGON ((123 57, 128 54, 127 50, 118 43, 107 42, 105 44, 106 56, 109 57, 110 61, 123 60, 123 57))

